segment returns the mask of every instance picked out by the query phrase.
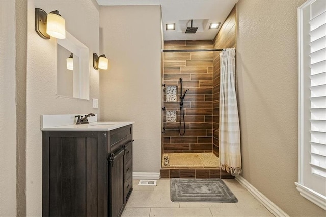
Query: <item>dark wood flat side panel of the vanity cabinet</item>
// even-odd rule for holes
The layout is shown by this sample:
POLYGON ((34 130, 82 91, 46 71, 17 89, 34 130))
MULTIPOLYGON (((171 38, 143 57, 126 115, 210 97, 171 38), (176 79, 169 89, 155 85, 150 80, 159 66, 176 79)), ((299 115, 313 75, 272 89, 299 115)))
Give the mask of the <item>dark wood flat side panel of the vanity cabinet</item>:
POLYGON ((105 133, 43 132, 43 216, 107 215, 105 133))

